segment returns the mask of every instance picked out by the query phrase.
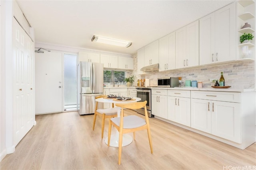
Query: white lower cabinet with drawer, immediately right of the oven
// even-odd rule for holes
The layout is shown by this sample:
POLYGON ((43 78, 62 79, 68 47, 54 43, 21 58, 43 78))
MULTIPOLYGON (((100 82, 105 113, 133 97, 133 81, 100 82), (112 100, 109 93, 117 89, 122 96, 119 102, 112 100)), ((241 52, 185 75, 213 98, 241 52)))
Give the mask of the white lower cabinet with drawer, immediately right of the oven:
POLYGON ((167 119, 167 90, 151 90, 151 112, 167 119))

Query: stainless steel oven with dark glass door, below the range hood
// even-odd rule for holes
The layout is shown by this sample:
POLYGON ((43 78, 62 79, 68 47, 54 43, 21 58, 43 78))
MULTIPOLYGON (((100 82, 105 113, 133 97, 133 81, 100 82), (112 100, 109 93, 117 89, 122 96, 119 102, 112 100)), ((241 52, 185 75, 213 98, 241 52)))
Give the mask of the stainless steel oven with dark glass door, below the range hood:
MULTIPOLYGON (((148 117, 154 117, 151 114, 151 89, 150 88, 136 88, 137 91, 137 98, 141 98, 140 102, 147 101, 146 108, 148 112, 148 117)), ((144 108, 137 109, 137 113, 145 115, 144 108)))

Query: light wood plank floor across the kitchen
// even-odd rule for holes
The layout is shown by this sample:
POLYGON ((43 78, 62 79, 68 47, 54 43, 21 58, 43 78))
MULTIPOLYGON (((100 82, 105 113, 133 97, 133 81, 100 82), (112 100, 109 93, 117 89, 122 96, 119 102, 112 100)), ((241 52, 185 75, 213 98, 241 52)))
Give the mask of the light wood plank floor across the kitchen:
MULTIPOLYGON (((135 112, 125 110, 126 115, 130 113, 135 112)), ((92 131, 93 115, 37 115, 36 122, 15 152, 1 161, 1 170, 256 169, 256 143, 241 150, 156 118, 150 118, 154 153, 150 154, 146 130, 136 132, 136 141, 122 149, 120 166, 118 148, 108 147, 101 139, 100 119, 92 131)), ((108 120, 104 138, 107 132, 108 120)))

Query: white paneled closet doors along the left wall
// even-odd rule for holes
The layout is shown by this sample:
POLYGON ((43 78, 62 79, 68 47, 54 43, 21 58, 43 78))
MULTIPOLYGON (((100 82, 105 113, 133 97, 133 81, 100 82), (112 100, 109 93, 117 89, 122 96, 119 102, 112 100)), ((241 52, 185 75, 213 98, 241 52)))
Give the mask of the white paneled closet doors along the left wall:
POLYGON ((12 24, 13 137, 16 146, 34 124, 34 45, 15 19, 12 24))

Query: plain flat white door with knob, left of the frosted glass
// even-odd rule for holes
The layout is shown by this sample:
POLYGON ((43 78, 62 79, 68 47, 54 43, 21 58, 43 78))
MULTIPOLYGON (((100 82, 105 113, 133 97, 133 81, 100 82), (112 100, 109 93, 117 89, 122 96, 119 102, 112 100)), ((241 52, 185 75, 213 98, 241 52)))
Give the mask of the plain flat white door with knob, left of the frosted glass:
POLYGON ((36 114, 62 112, 62 85, 62 53, 35 53, 36 114))

